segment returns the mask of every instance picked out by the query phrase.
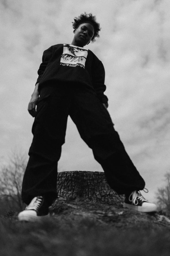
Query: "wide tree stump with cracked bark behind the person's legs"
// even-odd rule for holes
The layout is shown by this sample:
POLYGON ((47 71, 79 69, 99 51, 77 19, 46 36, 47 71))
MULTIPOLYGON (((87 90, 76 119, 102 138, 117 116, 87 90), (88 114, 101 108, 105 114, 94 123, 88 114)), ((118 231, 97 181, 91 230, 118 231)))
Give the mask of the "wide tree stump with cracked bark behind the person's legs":
MULTIPOLYGON (((93 201, 122 206, 124 196, 108 185, 104 172, 64 171, 58 173, 57 201, 93 201)), ((53 207, 55 206, 55 203, 53 207)))

